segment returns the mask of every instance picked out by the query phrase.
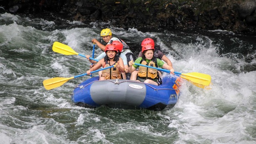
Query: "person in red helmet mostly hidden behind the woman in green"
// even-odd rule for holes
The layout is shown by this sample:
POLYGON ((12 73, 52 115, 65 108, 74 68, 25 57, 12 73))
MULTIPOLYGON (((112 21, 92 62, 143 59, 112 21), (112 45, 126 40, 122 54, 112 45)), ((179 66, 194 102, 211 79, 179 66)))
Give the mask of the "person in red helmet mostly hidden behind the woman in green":
MULTIPOLYGON (((151 38, 143 39, 143 41, 141 42, 141 46, 144 46, 144 45, 146 45, 146 44, 151 44, 152 46, 155 47, 155 42, 154 42, 154 40, 151 39, 151 38)), ((138 58, 139 58, 139 57, 142 57, 142 56, 143 56, 143 52, 140 51, 140 53, 139 53, 139 55, 138 55, 138 58)), ((166 57, 165 54, 163 54, 163 52, 162 52, 160 49, 155 49, 155 51, 154 51, 154 56, 155 56, 156 58, 161 59, 161 60, 163 60, 164 62, 166 62, 167 65, 168 65, 168 66, 171 66, 171 68, 173 69, 173 64, 172 64, 172 62, 170 61, 170 59, 168 59, 168 58, 166 57)), ((159 73, 160 73, 160 72, 159 72, 159 73)), ((136 78, 137 78, 137 74, 138 74, 138 71, 133 71, 133 73, 131 73, 131 78, 130 78, 130 80, 135 81, 136 78)), ((161 76, 161 73, 160 73, 160 76, 161 76)))

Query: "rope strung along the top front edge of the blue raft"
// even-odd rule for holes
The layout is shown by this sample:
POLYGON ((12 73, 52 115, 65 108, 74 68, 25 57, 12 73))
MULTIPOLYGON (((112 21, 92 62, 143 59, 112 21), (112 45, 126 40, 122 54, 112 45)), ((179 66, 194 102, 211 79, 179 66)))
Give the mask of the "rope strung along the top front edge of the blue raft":
MULTIPOLYGON (((102 80, 102 81, 110 81, 110 80, 102 80)), ((80 86, 76 86, 75 88, 80 88, 80 89, 84 89, 85 87, 87 87, 88 85, 90 85, 91 83, 93 83, 93 82, 96 82, 96 81, 92 81, 92 82, 90 82, 90 83, 88 83, 87 85, 85 85, 85 86, 83 86, 83 85, 80 85, 80 86)), ((124 83, 124 82, 131 82, 130 80, 127 80, 127 81, 118 81, 118 79, 115 79, 115 81, 110 81, 110 82, 112 82, 112 83, 114 83, 114 84, 120 84, 120 83, 124 83)), ((143 83, 143 82, 140 82, 140 81, 132 81, 133 83, 143 83)), ((180 88, 177 88, 177 89, 173 89, 173 88, 154 88, 154 87, 152 87, 151 85, 149 85, 148 83, 143 83, 143 84, 145 84, 145 85, 148 85, 149 87, 151 87, 151 88, 153 88, 155 91, 157 91, 157 90, 178 90, 178 89, 180 89, 180 88)), ((74 89, 75 89, 74 88, 74 89)))

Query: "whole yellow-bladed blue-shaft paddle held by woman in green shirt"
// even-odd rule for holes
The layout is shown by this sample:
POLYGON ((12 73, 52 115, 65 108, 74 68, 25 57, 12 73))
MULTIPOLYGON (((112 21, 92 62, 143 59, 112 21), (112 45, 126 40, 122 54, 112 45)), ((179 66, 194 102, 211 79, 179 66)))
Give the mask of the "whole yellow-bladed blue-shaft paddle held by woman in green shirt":
MULTIPOLYGON (((153 66, 146 66, 146 65, 143 65, 143 64, 139 64, 139 63, 134 63, 134 64, 138 65, 138 66, 145 66, 145 67, 148 67, 148 68, 154 68, 154 69, 157 69, 159 71, 164 71, 166 73, 171 72, 169 70, 162 69, 162 68, 156 68, 156 67, 153 67, 153 66)), ((174 73, 181 75, 181 78, 184 78, 184 79, 192 82, 192 84, 194 84, 194 85, 196 85, 200 88, 203 88, 203 86, 210 85, 210 83, 211 83, 211 76, 208 75, 208 74, 197 73, 197 72, 179 73, 179 72, 176 72, 176 71, 174 71, 174 73)))

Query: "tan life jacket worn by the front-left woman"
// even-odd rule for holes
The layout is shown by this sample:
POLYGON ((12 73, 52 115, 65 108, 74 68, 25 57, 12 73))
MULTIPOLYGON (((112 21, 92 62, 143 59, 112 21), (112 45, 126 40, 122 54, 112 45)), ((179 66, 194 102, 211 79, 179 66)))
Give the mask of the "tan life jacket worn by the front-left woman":
MULTIPOLYGON (((115 63, 117 63, 117 61, 115 61, 115 63)), ((115 63, 113 65, 115 65, 115 63)), ((112 66, 113 66, 112 65, 112 66)), ((105 61, 105 66, 104 68, 110 66, 110 64, 108 63, 108 61, 105 61)), ((116 67, 113 67, 113 68, 108 68, 108 69, 105 69, 102 71, 102 75, 101 76, 104 76, 106 78, 106 80, 109 80, 109 79, 123 79, 122 75, 121 75, 121 72, 119 71, 118 68, 116 67)))

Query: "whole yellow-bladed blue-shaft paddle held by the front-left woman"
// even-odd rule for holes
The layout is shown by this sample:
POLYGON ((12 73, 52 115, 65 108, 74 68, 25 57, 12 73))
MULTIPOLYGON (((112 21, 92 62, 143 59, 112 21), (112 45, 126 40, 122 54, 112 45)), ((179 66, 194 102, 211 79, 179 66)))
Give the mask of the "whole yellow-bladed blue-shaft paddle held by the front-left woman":
MULTIPOLYGON (((105 69, 108 69, 108 68, 113 68, 114 66, 115 65, 109 66, 109 67, 106 67, 106 68, 102 68, 102 69, 98 69, 96 71, 91 71, 90 73, 95 73, 95 72, 102 71, 102 70, 105 70, 105 69)), ((85 76, 85 75, 87 75, 87 73, 84 73, 84 74, 81 74, 81 75, 78 75, 78 76, 73 76, 73 77, 70 77, 70 78, 60 78, 60 77, 50 78, 50 79, 44 80, 43 85, 44 85, 46 90, 50 90, 50 89, 57 88, 57 87, 63 85, 65 82, 67 82, 70 79, 78 78, 80 76, 85 76)))

